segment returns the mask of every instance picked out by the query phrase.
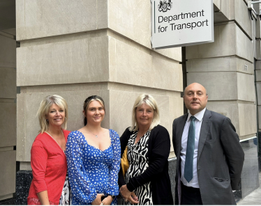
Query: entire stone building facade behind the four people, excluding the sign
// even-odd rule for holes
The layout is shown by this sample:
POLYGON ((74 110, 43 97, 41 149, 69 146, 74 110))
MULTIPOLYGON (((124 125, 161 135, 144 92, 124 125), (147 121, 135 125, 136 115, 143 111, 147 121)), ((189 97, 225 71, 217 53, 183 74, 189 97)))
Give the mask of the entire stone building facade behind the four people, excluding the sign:
MULTIPOLYGON (((74 130, 82 127, 85 98, 100 95, 103 127, 121 135, 135 97, 149 93, 158 102, 161 125, 172 134, 172 120, 184 114, 184 86, 193 82, 207 88, 207 108, 228 116, 239 134, 246 161, 235 197, 259 186, 260 17, 249 13, 246 1, 214 0, 215 42, 172 49, 151 49, 149 0, 1 2, 0 204, 26 203, 43 97, 67 100, 68 129, 74 130)), ((172 148, 173 187, 174 157, 172 148)))

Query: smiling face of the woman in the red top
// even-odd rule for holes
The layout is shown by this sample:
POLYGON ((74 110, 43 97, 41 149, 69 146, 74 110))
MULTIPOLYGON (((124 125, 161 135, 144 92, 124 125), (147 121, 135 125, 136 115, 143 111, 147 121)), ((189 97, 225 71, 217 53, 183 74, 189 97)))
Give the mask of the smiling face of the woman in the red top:
POLYGON ((49 122, 49 127, 61 127, 65 120, 65 111, 57 104, 52 104, 45 118, 49 122))

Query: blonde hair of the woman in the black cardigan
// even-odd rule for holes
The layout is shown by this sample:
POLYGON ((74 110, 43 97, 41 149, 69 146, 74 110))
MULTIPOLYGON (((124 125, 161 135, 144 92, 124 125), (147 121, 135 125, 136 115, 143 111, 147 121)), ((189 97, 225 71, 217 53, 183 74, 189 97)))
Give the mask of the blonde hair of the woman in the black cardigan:
POLYGON ((151 95, 142 94, 137 97, 133 105, 132 127, 130 127, 130 131, 139 130, 139 125, 137 125, 137 119, 136 119, 136 109, 138 106, 142 105, 143 103, 149 105, 154 110, 153 120, 151 122, 149 130, 153 129, 160 123, 160 113, 158 111, 158 104, 156 100, 151 95))

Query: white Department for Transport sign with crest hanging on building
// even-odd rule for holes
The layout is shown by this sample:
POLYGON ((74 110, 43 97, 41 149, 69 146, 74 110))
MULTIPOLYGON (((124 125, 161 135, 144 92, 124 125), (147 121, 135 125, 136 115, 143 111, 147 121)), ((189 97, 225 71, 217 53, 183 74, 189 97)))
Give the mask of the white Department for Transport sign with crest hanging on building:
POLYGON ((213 0, 151 0, 152 48, 214 42, 213 0))

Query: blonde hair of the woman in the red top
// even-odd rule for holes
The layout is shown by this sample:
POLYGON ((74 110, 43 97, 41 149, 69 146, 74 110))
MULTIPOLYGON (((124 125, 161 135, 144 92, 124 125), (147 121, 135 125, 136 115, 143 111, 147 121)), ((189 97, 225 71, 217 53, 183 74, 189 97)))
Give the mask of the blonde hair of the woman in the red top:
POLYGON ((47 122, 46 116, 47 116, 52 104, 57 104, 58 106, 61 107, 61 109, 64 110, 65 120, 64 120, 64 124, 62 126, 64 127, 64 129, 66 129, 66 127, 67 127, 68 105, 66 103, 66 100, 64 100, 64 98, 59 95, 52 95, 52 96, 49 95, 49 96, 45 97, 42 102, 40 102, 40 107, 36 114, 36 116, 38 116, 39 123, 40 123, 39 132, 42 134, 43 134, 43 132, 45 132, 49 129, 49 122, 47 122))

